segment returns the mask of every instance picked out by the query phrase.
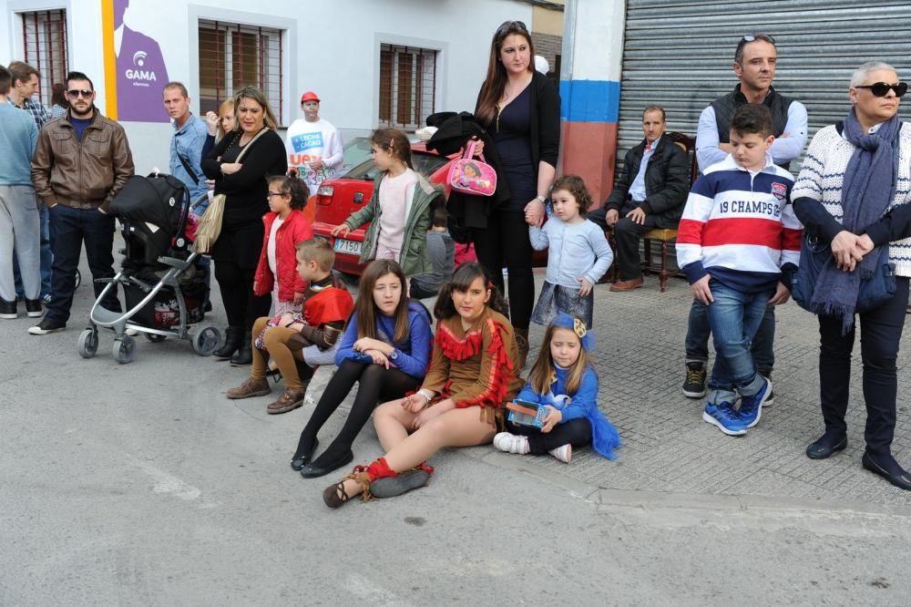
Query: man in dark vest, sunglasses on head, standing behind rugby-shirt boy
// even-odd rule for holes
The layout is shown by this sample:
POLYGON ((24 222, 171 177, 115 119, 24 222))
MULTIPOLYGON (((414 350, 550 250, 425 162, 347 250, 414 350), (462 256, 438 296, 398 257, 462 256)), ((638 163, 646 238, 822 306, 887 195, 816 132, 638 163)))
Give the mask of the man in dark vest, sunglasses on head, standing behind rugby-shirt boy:
MULTIPOLYGON (((772 87, 778 66, 778 50, 772 36, 746 35, 734 51, 734 74, 740 83, 727 95, 715 99, 702 110, 696 133, 696 159, 700 170, 727 158, 730 143, 731 118, 746 103, 761 103, 772 111, 772 159, 783 169, 791 169, 791 161, 800 156, 806 144, 807 115, 804 104, 784 97, 772 87)), ((752 357, 764 377, 772 375, 774 365, 775 312, 768 306, 752 342, 752 357)), ((709 361, 709 318, 705 306, 693 300, 686 336, 686 377, 683 394, 691 398, 705 396, 706 368, 709 361)), ((773 404, 769 396, 765 406, 773 404)))

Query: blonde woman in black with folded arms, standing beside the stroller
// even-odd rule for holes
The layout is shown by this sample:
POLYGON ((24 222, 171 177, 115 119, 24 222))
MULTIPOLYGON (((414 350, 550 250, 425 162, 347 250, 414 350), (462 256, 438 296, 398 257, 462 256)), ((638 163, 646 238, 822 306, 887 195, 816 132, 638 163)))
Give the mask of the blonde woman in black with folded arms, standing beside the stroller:
POLYGON ((250 365, 253 321, 269 314, 270 295, 253 294, 253 274, 260 261, 262 216, 269 211, 266 178, 288 169, 284 142, 275 132, 275 115, 259 88, 243 87, 234 96, 237 128, 220 139, 202 170, 225 194, 221 234, 212 246, 215 278, 228 315, 225 345, 215 353, 231 365, 250 365), (241 150, 250 149, 241 162, 241 150))

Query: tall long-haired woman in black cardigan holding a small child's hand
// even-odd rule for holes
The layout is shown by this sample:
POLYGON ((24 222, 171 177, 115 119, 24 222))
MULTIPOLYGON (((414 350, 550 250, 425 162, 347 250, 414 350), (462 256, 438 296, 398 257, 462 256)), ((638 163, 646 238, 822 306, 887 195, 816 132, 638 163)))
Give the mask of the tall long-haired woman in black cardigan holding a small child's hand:
POLYGON ((533 57, 535 47, 524 23, 499 26, 475 108, 501 160, 497 178, 509 188, 508 201, 487 215, 486 230, 474 233, 477 259, 502 293, 502 269, 508 270, 509 316, 520 367, 528 355, 528 322, 535 301, 528 225, 544 222, 560 143, 557 89, 535 70, 533 57))

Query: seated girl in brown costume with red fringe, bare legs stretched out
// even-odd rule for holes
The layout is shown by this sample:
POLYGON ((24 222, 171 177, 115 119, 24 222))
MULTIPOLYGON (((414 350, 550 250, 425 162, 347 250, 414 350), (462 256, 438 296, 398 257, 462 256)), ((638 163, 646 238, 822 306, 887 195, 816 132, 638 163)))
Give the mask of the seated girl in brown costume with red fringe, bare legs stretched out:
POLYGON ((434 353, 421 388, 377 407, 374 426, 386 455, 326 488, 338 508, 358 494, 391 498, 426 484, 438 449, 490 443, 503 406, 517 395, 518 352, 506 304, 479 263, 463 264, 440 289, 434 353))

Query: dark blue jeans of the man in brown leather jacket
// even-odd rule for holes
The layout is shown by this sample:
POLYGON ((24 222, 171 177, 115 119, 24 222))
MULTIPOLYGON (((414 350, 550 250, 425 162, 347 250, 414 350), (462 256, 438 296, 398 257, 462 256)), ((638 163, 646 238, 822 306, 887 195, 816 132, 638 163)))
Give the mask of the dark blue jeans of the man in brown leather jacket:
MULTIPOLYGON (((114 218, 97 209, 73 209, 65 204, 57 204, 50 210, 50 216, 54 232, 53 291, 45 319, 66 324, 76 291, 76 270, 83 243, 96 298, 106 285, 95 281, 114 277, 114 218)), ((108 310, 120 311, 117 289, 111 289, 101 304, 108 310)))

